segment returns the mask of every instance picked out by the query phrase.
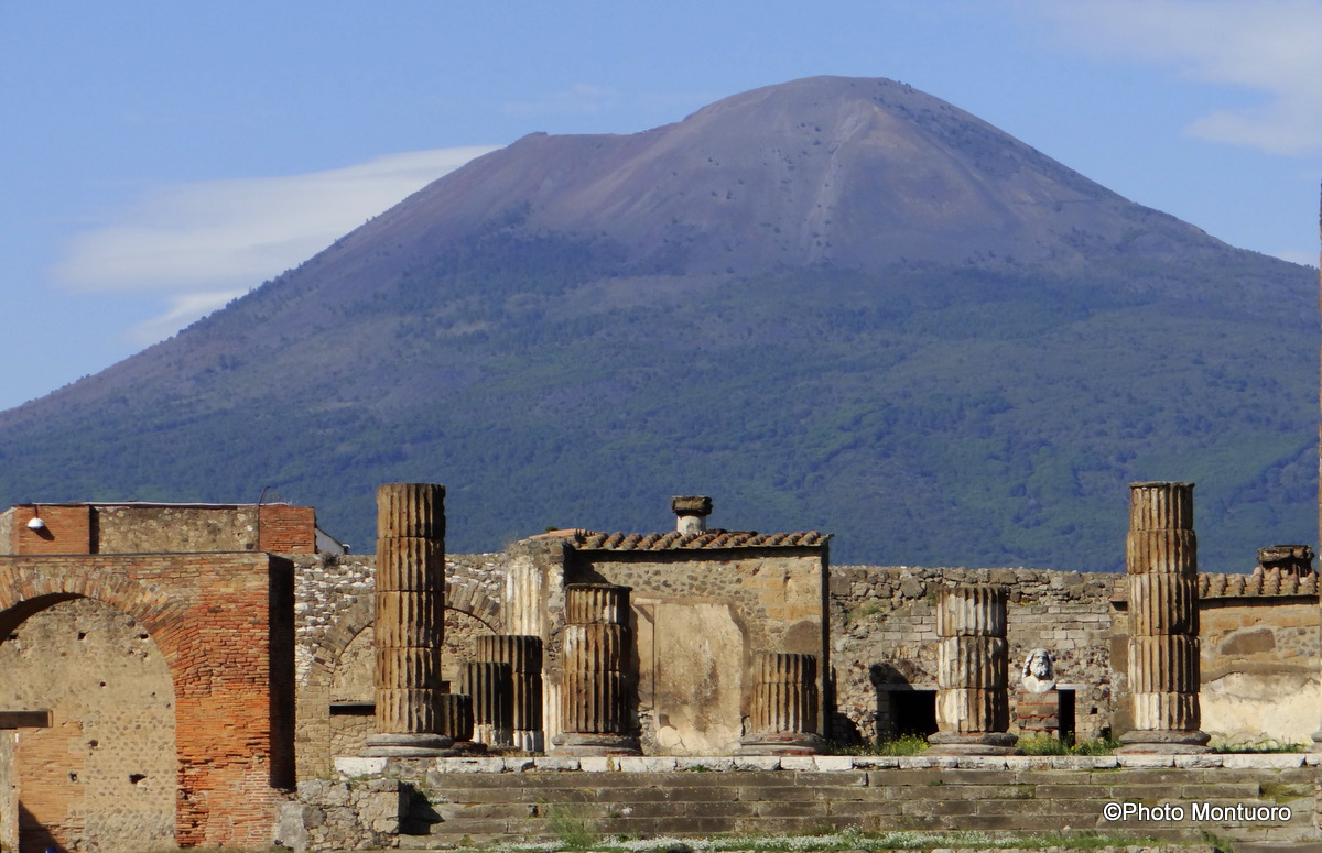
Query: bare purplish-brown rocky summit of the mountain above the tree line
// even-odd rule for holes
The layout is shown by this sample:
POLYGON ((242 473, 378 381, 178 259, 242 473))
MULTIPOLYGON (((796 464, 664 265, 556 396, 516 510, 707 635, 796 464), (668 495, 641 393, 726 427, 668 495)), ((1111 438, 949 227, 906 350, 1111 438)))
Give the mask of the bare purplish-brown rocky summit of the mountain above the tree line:
POLYGON ((1068 264, 1080 234, 1112 243, 1144 218, 1208 239, 910 86, 814 77, 640 133, 525 136, 361 239, 436 246, 512 223, 616 242, 625 272, 742 275, 989 254, 1068 264))

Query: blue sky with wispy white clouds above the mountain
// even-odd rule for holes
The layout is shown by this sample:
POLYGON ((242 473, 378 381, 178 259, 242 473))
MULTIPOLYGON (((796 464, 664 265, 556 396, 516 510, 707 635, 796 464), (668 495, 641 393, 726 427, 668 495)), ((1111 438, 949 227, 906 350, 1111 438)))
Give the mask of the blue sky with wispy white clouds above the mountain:
POLYGON ((0 0, 0 408, 95 374, 533 131, 888 77, 1317 264, 1322 0, 0 0))

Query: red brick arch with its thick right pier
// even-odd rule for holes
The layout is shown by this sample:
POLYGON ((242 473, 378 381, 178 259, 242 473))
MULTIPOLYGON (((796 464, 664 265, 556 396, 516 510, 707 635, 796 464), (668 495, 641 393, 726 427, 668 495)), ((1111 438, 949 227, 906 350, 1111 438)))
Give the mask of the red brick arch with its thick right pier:
POLYGON ((151 634, 175 687, 177 844, 264 846, 293 782, 293 566, 266 553, 0 557, 0 636, 95 598, 151 634))

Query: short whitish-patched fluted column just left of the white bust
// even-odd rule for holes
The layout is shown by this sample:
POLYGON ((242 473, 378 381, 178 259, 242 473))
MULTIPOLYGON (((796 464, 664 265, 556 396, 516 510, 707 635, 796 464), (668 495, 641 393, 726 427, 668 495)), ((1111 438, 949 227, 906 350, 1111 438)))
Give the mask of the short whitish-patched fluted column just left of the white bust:
POLYGON ((1006 755, 1010 728, 1010 647, 1003 586, 943 589, 936 601, 935 755, 1006 755))

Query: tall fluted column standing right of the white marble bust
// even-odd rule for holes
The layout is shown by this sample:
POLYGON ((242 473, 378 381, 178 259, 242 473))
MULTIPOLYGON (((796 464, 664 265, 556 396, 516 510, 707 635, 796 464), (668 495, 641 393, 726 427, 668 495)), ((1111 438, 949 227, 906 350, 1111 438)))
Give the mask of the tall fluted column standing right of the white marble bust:
POLYGON ((1198 540, 1194 483, 1130 483, 1126 753, 1206 753, 1198 730, 1198 540))

